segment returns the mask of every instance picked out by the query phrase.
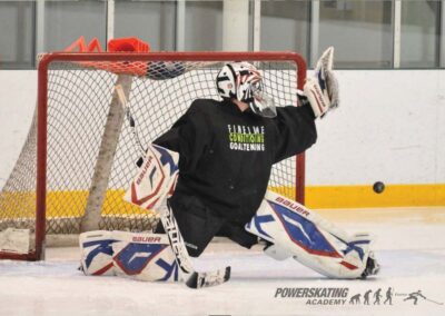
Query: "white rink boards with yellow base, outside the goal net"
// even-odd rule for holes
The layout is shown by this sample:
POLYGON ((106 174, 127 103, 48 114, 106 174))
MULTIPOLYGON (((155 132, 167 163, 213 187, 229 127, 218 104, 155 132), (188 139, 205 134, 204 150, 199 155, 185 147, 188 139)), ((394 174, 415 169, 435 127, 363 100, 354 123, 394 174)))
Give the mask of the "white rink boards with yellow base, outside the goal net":
MULTIPOLYGON (((307 151, 315 208, 445 205, 445 72, 338 70, 342 107, 317 122, 307 151), (373 191, 382 181, 385 190, 373 191)), ((0 71, 0 185, 36 105, 37 72, 0 71)))

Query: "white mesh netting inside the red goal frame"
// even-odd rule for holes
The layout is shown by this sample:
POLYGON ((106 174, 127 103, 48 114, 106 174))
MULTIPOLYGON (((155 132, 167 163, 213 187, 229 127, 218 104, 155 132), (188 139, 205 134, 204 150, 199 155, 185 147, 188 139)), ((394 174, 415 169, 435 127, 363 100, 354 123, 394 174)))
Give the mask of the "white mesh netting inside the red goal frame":
MULTIPOLYGON (((46 165, 39 165, 47 172, 43 182, 46 233, 78 234, 81 230, 89 213, 87 205, 95 204, 89 201, 91 191, 100 187, 97 178, 102 185, 106 181, 106 186, 96 192, 99 215, 93 225, 100 229, 131 231, 154 227, 158 220, 155 213, 140 210, 122 200, 137 171, 141 148, 168 130, 194 99, 219 99, 215 78, 226 61, 230 60, 177 61, 169 62, 167 68, 165 62, 140 61, 137 71, 135 62, 103 61, 101 66, 98 61, 50 62, 46 93, 46 165), (110 65, 119 65, 120 70, 115 71, 116 67, 110 65), (123 87, 128 103, 127 109, 112 112, 112 107, 122 107, 121 102, 113 101, 117 83, 123 87), (105 138, 109 138, 107 125, 112 125, 108 129, 111 128, 111 135, 115 132, 116 144, 100 158, 99 152, 107 142, 105 138), (109 167, 103 167, 103 161, 109 167)), ((263 71, 265 91, 278 106, 297 105, 297 63, 259 59, 251 62, 263 71)), ((0 194, 0 231, 9 227, 36 230, 38 127, 41 128, 36 116, 16 167, 0 194)), ((290 158, 275 166, 270 188, 296 198, 296 159, 290 158)))

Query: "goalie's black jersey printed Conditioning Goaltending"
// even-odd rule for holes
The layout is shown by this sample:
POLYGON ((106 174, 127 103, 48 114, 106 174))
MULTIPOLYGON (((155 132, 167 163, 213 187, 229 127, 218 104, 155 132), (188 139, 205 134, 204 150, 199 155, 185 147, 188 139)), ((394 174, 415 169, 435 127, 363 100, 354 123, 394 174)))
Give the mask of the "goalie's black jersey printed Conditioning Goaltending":
POLYGON ((271 166, 315 142, 314 119, 307 105, 263 118, 228 100, 195 100, 154 141, 180 155, 172 199, 196 197, 217 216, 247 223, 266 194, 271 166))

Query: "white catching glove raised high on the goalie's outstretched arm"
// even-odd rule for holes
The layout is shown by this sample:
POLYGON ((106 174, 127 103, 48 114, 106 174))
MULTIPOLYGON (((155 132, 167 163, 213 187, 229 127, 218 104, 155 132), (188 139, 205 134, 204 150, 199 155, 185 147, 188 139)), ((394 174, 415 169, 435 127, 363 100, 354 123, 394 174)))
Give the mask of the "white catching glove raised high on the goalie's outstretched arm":
POLYGON ((339 103, 338 82, 333 71, 333 62, 334 47, 329 47, 317 61, 315 77, 306 79, 304 93, 315 117, 323 118, 339 103))

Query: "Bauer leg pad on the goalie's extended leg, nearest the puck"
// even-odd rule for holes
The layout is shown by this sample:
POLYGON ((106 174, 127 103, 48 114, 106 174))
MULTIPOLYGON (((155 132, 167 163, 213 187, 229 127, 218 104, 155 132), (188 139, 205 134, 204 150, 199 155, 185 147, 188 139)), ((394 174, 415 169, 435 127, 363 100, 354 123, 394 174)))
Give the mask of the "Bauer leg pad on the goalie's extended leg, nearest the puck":
POLYGON ((303 205, 271 191, 246 230, 275 244, 278 253, 273 255, 278 259, 290 255, 327 277, 362 277, 369 256, 367 234, 349 236, 303 205))

